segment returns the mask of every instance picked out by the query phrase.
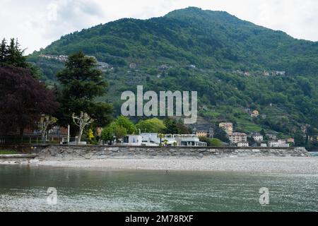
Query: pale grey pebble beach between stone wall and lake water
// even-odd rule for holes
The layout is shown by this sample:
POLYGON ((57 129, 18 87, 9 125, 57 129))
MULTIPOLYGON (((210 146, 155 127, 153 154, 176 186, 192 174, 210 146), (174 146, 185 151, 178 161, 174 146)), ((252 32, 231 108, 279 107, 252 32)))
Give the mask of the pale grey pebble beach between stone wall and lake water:
POLYGON ((318 157, 223 157, 213 159, 44 160, 38 166, 78 169, 318 174, 318 157))

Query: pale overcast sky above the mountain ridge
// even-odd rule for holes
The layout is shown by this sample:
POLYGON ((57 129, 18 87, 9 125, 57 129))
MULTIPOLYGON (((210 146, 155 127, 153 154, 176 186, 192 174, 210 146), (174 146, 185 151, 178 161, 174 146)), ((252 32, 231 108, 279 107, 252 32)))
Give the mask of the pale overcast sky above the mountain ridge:
POLYGON ((188 6, 228 11, 257 25, 318 41, 317 0, 0 0, 0 38, 18 37, 30 53, 76 30, 119 18, 164 16, 188 6))

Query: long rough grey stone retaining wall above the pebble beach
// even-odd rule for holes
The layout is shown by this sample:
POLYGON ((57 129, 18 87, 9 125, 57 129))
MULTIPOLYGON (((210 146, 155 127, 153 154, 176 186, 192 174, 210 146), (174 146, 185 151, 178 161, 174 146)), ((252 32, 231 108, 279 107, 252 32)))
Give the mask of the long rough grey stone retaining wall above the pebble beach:
POLYGON ((194 147, 131 147, 95 145, 49 145, 34 151, 42 160, 102 160, 107 158, 216 158, 216 157, 310 157, 305 148, 194 148, 194 147))

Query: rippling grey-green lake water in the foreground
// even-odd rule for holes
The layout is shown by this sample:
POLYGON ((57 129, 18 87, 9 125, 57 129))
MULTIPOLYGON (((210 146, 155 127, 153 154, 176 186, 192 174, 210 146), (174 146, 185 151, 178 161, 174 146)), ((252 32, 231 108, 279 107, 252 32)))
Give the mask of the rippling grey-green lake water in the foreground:
POLYGON ((1 211, 317 211, 318 175, 0 165, 1 211), (57 189, 57 204, 47 189, 57 189), (269 205, 259 189, 269 189, 269 205))

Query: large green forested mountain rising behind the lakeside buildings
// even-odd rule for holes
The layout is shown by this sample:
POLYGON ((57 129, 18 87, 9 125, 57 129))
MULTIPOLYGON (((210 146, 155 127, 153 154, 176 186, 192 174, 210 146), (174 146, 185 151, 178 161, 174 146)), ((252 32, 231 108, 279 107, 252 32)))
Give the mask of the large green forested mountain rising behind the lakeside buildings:
POLYGON ((318 127, 318 42, 296 40, 223 11, 184 8, 160 18, 124 18, 64 35, 28 59, 56 83, 58 59, 78 50, 110 64, 105 100, 119 113, 120 93, 197 90, 208 122, 233 121, 237 131, 286 136, 318 127), (132 64, 134 63, 134 64, 132 64), (257 109, 260 116, 249 112, 257 109))

